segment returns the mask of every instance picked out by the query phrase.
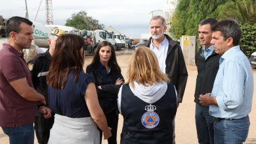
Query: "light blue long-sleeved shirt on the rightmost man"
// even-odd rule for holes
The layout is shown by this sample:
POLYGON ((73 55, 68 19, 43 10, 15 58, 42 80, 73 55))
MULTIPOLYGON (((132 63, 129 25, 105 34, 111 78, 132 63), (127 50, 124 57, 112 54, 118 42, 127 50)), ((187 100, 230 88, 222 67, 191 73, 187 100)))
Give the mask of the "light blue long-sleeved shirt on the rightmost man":
POLYGON ((251 111, 253 72, 249 60, 234 46, 221 56, 219 71, 211 96, 218 105, 209 105, 209 113, 217 118, 242 118, 251 111))

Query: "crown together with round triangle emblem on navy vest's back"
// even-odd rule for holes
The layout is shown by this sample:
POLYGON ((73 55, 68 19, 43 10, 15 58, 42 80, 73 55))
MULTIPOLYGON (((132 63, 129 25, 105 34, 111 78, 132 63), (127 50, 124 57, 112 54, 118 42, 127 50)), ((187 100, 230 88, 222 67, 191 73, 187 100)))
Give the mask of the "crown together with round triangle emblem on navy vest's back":
POLYGON ((155 128, 158 126, 160 122, 160 117, 156 112, 156 106, 155 105, 146 105, 145 110, 147 111, 144 113, 141 117, 141 124, 145 128, 155 128))

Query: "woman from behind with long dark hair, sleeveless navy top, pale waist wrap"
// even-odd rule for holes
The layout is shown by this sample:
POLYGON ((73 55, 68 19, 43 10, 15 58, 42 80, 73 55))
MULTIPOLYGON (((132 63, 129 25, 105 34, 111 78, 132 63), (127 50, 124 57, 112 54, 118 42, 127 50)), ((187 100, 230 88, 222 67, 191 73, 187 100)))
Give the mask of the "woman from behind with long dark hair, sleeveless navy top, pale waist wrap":
POLYGON ((49 106, 55 113, 48 143, 100 143, 111 136, 98 103, 93 77, 83 71, 85 41, 66 34, 58 37, 47 83, 49 106))

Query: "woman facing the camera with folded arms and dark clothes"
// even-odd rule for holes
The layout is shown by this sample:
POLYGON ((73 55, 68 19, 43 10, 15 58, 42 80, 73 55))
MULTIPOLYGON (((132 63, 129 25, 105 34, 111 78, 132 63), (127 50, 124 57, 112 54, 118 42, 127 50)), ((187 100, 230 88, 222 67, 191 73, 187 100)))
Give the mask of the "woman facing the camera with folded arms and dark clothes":
MULTIPOLYGON (((106 115, 108 126, 112 128, 112 137, 108 139, 109 144, 116 144, 118 109, 117 94, 123 76, 116 61, 114 46, 108 41, 102 41, 96 48, 93 62, 87 66, 86 72, 95 78, 98 101, 106 115)), ((101 137, 102 133, 100 133, 101 137)))

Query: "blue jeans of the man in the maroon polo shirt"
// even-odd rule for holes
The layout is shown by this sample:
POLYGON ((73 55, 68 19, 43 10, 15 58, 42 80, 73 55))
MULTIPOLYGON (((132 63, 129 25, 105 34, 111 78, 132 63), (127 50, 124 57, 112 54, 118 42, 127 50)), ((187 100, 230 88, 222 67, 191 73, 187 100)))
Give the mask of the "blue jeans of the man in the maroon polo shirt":
POLYGON ((9 136, 10 144, 33 144, 33 123, 15 128, 2 128, 9 136))

